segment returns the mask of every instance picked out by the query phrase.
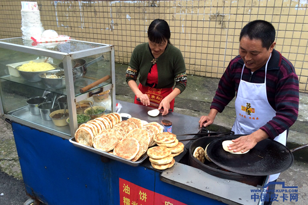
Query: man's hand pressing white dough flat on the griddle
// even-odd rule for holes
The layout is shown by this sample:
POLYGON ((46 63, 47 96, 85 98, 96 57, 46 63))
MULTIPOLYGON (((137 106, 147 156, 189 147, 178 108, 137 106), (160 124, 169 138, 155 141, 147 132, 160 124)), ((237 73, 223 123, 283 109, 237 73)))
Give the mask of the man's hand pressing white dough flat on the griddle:
POLYGON ((257 130, 250 135, 241 136, 237 139, 233 139, 234 142, 231 145, 228 145, 229 150, 233 152, 246 152, 253 149, 257 143, 263 139, 266 139, 268 135, 263 130, 257 130))

